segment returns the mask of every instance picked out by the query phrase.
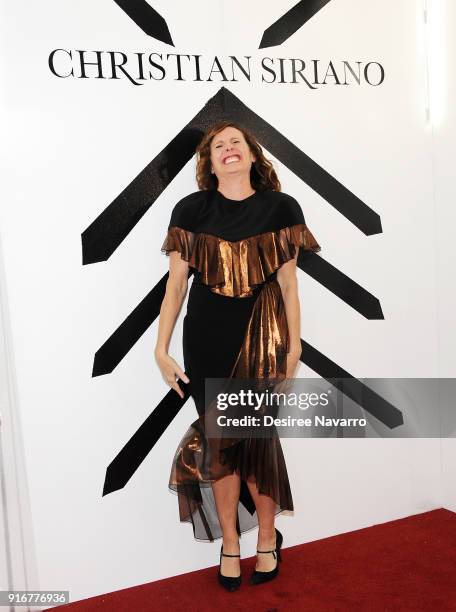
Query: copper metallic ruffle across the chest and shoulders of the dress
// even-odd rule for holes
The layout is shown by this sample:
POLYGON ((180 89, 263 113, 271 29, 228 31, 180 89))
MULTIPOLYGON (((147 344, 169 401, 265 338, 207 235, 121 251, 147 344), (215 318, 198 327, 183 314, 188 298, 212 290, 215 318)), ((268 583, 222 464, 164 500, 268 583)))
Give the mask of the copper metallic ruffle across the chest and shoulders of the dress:
POLYGON ((168 229, 161 250, 166 255, 180 252, 214 293, 248 297, 255 285, 264 283, 282 264, 293 259, 297 247, 315 253, 321 250, 304 223, 235 242, 173 226, 168 229))

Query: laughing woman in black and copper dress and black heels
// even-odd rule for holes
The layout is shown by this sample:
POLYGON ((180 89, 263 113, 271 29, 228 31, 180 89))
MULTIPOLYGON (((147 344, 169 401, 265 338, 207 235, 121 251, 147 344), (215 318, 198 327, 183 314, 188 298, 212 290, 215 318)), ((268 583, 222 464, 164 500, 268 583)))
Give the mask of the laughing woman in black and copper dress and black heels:
MULTIPOLYGON (((176 451, 169 487, 181 521, 196 539, 223 538, 218 580, 241 584, 239 536, 258 526, 252 584, 278 573, 282 535, 276 514, 293 510, 278 436, 210 439, 205 431, 205 378, 292 378, 301 356, 296 278, 299 247, 320 251, 298 202, 280 191, 254 136, 222 121, 197 148, 199 191, 171 214, 161 250, 169 278, 155 358, 164 380, 184 397, 189 385, 199 418, 176 451), (183 326, 185 371, 168 355, 171 333, 194 272, 183 326)), ((205 401, 206 399, 206 401, 205 401)))

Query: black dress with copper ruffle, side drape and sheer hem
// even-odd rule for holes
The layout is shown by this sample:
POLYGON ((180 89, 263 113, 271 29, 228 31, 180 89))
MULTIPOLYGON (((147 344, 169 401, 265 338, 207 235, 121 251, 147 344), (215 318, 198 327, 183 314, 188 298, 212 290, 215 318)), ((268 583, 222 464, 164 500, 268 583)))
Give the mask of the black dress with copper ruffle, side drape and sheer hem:
POLYGON ((299 247, 321 250, 301 206, 283 192, 256 191, 238 201, 216 189, 196 191, 172 211, 161 250, 180 252, 194 269, 183 355, 199 418, 176 450, 169 487, 196 539, 222 536, 211 483, 234 471, 241 476, 239 534, 258 525, 247 479, 275 500, 276 514, 293 510, 279 437, 208 439, 204 391, 205 378, 286 377, 289 334, 276 277, 299 247))

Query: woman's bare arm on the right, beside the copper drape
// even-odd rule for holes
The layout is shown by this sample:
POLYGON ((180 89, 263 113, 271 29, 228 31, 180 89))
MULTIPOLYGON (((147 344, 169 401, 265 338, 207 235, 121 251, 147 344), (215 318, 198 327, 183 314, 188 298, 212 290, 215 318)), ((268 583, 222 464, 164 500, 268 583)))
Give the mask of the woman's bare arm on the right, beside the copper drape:
POLYGON ((287 378, 293 378, 301 357, 301 309, 299 304, 298 279, 296 276, 296 261, 299 250, 290 261, 277 270, 277 282, 282 291, 287 316, 290 347, 287 358, 287 378))

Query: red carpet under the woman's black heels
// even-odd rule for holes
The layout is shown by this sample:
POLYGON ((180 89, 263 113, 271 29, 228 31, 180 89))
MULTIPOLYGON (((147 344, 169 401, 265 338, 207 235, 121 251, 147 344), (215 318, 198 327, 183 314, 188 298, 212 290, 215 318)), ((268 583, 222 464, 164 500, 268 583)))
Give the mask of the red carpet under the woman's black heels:
MULTIPOLYGON (((282 530, 284 531, 284 530, 282 530)), ((85 599, 73 611, 284 612, 456 610, 456 514, 433 510, 286 548, 279 576, 248 584, 255 559, 241 563, 235 593, 216 582, 216 568, 199 570, 85 599)), ((213 546, 217 557, 220 546, 213 546)))

